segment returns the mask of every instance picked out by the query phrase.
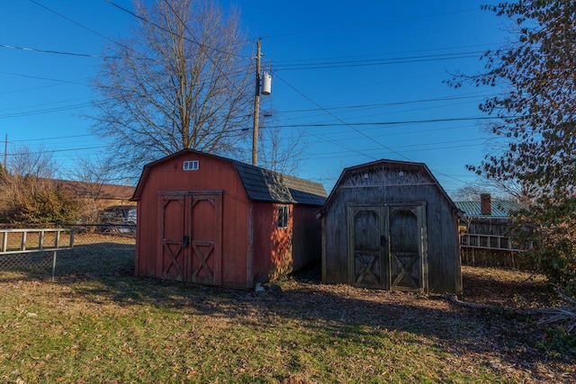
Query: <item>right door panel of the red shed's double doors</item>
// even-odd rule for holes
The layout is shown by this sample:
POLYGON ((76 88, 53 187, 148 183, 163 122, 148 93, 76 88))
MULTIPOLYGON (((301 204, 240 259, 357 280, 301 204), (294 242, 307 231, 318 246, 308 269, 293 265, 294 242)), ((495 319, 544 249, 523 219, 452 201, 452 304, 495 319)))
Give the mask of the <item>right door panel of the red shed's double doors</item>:
POLYGON ((189 280, 220 284, 222 195, 195 193, 190 201, 191 265, 189 280))

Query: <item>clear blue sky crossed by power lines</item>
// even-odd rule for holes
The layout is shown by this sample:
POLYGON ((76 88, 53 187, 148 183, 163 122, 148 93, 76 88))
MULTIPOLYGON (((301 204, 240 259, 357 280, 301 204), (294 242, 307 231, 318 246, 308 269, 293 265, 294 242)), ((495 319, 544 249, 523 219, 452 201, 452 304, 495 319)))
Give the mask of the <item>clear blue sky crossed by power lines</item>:
MULTIPOLYGON (((133 9, 129 0, 114 0, 133 9)), ((450 73, 475 74, 486 49, 509 38, 485 1, 221 2, 237 6, 246 60, 262 38, 273 73, 262 110, 306 141, 297 176, 329 191, 344 167, 388 158, 426 163, 447 192, 475 180, 495 145, 478 110, 495 88, 452 89, 450 73)), ((54 151, 62 173, 108 143, 80 117, 106 39, 133 16, 105 0, 5 0, 0 4, 0 140, 54 151), (19 47, 37 50, 23 50, 19 47)), ((0 146, 4 152, 4 145, 0 146)))

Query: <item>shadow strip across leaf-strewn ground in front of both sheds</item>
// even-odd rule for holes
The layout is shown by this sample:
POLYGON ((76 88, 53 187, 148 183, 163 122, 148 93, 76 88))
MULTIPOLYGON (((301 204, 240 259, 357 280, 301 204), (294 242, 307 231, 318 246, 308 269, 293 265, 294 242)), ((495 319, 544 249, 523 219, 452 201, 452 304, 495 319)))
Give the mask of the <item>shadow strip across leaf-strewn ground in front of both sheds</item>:
MULTIPOLYGON (((189 316, 233 318, 262 332, 302 327, 311 330, 312 342, 319 344, 349 341, 383 347, 378 340, 383 334, 393 334, 403 343, 432 343, 446 358, 468 354, 482 362, 500 360, 542 380, 537 365, 566 363, 576 357, 562 345, 543 344, 545 330, 529 317, 451 307, 440 298, 323 285, 318 265, 278 281, 284 289, 271 286, 257 293, 134 277, 133 263, 129 263, 133 258, 124 258, 112 263, 111 269, 71 273, 58 277, 57 283, 74 284, 75 298, 81 295, 94 303, 112 301, 123 307, 150 306, 189 316)), ((486 292, 512 288, 510 282, 476 275, 464 281, 464 287, 467 283, 478 290, 482 284, 490 287, 486 292)))

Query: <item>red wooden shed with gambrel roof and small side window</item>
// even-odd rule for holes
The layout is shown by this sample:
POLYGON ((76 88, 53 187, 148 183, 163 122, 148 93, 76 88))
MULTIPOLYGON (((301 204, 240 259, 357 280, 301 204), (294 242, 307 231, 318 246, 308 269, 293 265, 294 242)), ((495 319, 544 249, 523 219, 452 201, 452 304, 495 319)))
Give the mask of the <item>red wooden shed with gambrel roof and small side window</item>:
POLYGON ((320 183, 185 149, 144 167, 135 273, 252 288, 320 259, 320 183))

